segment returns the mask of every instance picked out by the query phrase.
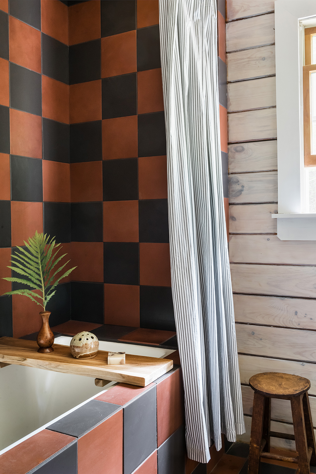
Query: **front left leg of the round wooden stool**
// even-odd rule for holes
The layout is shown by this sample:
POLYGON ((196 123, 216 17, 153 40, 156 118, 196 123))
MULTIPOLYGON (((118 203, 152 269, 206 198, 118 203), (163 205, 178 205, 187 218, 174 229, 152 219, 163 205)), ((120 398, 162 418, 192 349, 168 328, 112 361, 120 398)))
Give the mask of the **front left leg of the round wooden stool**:
POLYGON ((265 397, 254 392, 248 474, 259 474, 264 408, 265 397))

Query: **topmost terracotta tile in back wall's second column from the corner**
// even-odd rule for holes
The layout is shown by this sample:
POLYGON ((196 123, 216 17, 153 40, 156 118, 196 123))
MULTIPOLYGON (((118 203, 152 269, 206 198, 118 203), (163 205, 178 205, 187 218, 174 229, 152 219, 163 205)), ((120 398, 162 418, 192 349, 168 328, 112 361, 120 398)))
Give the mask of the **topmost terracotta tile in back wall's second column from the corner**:
POLYGON ((101 77, 136 71, 136 30, 101 38, 101 77))

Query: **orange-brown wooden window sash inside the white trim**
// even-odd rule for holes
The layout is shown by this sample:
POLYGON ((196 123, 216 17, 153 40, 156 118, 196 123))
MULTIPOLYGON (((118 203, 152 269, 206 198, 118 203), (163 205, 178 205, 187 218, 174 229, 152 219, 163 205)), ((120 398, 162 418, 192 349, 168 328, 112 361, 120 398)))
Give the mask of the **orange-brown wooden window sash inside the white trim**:
POLYGON ((316 64, 311 64, 312 38, 316 27, 305 28, 305 65, 303 66, 303 122, 304 122, 304 166, 316 166, 316 155, 311 154, 311 73, 316 72, 316 64))

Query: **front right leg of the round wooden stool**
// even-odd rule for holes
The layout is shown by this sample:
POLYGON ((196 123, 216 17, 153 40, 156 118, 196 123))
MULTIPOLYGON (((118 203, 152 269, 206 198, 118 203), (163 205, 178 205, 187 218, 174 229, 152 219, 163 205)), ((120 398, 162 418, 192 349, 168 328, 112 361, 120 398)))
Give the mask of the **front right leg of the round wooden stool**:
POLYGON ((295 436, 295 446, 298 452, 298 473, 309 474, 307 457, 307 438, 305 431, 303 395, 291 398, 292 418, 295 436))

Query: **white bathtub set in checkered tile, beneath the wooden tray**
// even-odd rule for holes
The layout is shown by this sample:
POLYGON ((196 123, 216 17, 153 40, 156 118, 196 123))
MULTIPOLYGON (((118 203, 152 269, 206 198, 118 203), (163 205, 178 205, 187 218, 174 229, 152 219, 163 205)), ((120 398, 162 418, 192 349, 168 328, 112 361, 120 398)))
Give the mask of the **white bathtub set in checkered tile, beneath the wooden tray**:
MULTIPOLYGON (((56 344, 69 346, 72 337, 60 336, 56 344)), ((138 356, 164 358, 174 350, 99 341, 103 351, 126 352, 138 356)), ((96 387, 94 377, 61 374, 22 365, 0 369, 0 455, 21 438, 45 428, 54 419, 89 401, 99 392, 110 390, 115 382, 96 387)))

